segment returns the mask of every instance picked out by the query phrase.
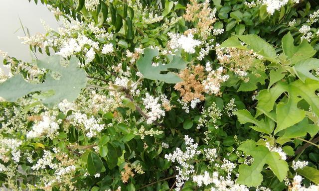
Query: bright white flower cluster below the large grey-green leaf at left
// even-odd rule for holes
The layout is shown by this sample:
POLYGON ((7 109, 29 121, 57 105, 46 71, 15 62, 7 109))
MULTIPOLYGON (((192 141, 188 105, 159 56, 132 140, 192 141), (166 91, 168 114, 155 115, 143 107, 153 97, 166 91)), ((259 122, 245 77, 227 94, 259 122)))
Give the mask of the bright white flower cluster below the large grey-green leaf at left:
POLYGON ((61 120, 56 119, 57 113, 53 112, 52 115, 48 111, 41 115, 42 120, 37 121, 32 130, 26 134, 29 139, 39 138, 39 137, 49 137, 53 139, 58 134, 59 124, 61 120))

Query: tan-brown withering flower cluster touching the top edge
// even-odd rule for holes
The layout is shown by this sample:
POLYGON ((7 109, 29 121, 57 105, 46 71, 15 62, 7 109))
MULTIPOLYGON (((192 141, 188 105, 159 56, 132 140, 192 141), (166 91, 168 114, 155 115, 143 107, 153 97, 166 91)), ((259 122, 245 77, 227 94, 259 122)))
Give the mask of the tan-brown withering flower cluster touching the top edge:
POLYGON ((205 2, 200 4, 196 0, 190 0, 190 2, 187 4, 186 14, 183 17, 187 21, 197 23, 197 31, 203 39, 207 39, 211 30, 213 30, 212 24, 216 21, 216 10, 209 7, 209 0, 205 0, 205 2))

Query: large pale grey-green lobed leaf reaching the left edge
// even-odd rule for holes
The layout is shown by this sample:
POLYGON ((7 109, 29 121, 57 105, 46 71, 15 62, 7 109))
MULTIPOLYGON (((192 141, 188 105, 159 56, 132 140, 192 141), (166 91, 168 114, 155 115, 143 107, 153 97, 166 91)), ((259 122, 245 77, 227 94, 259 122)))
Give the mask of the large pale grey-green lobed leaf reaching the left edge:
POLYGON ((69 66, 63 67, 60 64, 60 56, 57 55, 37 60, 38 68, 57 72, 60 78, 55 80, 48 74, 44 83, 31 84, 26 82, 21 75, 15 75, 0 84, 0 96, 8 101, 16 101, 19 97, 32 92, 54 91, 54 95, 42 100, 48 107, 54 106, 63 99, 74 101, 81 89, 86 86, 86 73, 83 69, 77 68, 78 63, 79 60, 72 57, 69 66))

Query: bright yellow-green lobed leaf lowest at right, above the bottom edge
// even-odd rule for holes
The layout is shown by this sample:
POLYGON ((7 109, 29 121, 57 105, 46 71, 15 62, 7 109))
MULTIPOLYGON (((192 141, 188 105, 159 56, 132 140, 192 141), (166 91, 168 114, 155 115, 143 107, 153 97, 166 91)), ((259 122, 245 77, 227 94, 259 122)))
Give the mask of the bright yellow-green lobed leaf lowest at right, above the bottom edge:
POLYGON ((263 181, 261 171, 265 164, 269 165, 269 168, 280 182, 287 176, 289 170, 288 164, 286 161, 280 159, 280 155, 277 152, 269 151, 269 149, 263 145, 257 146, 253 140, 243 142, 238 149, 254 158, 254 162, 250 166, 246 164, 239 166, 238 184, 248 187, 259 186, 263 181))

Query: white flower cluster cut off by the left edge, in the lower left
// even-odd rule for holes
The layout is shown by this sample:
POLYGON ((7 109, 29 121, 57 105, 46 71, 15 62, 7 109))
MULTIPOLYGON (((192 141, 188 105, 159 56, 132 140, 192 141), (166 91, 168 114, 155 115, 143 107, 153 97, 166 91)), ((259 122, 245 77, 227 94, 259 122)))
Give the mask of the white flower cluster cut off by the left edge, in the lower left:
POLYGON ((22 141, 17 139, 0 139, 0 159, 5 163, 8 162, 9 158, 6 154, 11 151, 12 160, 18 163, 21 157, 21 151, 18 148, 21 144, 22 141))

